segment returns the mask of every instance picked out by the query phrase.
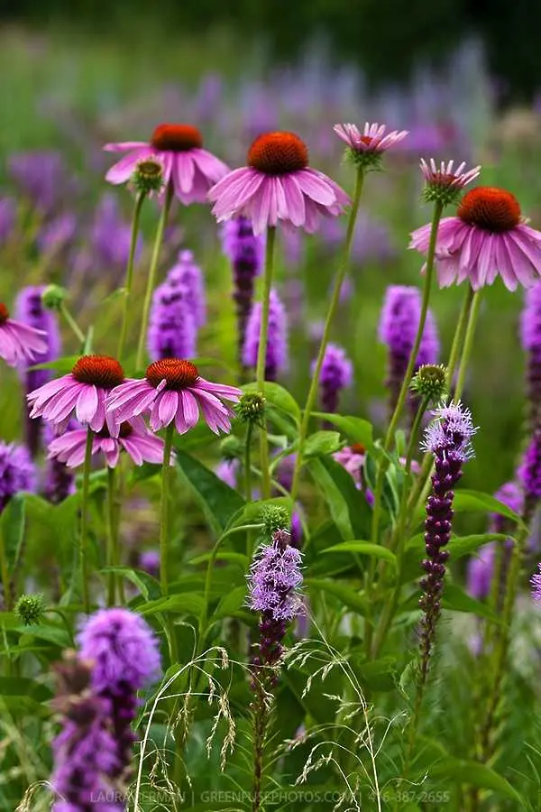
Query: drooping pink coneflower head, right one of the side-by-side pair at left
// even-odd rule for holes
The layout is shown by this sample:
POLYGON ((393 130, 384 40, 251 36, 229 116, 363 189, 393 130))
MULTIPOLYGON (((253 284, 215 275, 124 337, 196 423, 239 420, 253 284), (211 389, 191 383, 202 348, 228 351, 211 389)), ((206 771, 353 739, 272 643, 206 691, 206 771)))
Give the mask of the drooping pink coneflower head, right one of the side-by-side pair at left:
POLYGON ((118 427, 150 412, 152 431, 174 420, 179 434, 184 434, 197 424, 200 409, 208 428, 219 434, 231 429, 233 415, 222 401, 236 403, 241 394, 234 386, 206 381, 190 361, 164 358, 151 364, 142 380, 128 379, 117 386, 109 396, 107 414, 118 427))

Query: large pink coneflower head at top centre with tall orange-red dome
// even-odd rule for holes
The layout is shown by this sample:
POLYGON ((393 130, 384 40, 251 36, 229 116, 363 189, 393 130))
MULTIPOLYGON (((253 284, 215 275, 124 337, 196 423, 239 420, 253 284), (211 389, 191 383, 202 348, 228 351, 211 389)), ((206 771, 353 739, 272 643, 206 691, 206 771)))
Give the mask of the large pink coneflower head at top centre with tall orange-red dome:
POLYGON ((334 180, 308 166, 307 145, 293 133, 259 135, 248 166, 234 170, 210 189, 219 223, 249 217, 254 234, 279 221, 317 229, 320 217, 337 217, 350 200, 334 180))

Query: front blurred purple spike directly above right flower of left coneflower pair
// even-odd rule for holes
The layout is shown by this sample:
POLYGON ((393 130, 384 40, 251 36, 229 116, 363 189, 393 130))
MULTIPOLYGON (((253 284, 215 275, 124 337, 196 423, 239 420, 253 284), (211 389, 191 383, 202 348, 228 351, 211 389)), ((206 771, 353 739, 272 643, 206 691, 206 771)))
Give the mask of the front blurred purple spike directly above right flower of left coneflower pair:
POLYGON ((186 285, 165 281, 154 291, 147 349, 152 361, 196 355, 197 325, 186 285))

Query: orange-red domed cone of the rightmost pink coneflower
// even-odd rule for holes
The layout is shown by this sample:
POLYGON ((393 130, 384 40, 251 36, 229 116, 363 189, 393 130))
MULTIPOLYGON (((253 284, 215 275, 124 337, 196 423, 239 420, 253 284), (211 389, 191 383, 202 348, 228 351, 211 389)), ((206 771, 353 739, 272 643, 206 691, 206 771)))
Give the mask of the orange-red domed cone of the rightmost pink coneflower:
POLYGON ((469 226, 501 233, 518 226, 520 206, 517 198, 505 189, 478 186, 464 195, 457 215, 469 226))

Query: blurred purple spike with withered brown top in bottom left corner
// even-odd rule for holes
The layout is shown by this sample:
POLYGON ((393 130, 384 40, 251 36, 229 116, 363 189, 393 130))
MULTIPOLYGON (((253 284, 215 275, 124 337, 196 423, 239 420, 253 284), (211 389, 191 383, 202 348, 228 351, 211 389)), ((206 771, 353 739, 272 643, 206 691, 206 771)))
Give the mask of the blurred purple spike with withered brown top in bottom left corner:
POLYGON ((57 799, 53 812, 122 812, 124 798, 111 783, 119 763, 107 703, 90 687, 91 661, 71 660, 56 666, 59 677, 53 706, 62 730, 52 743, 50 779, 57 799), (114 798, 114 799, 107 799, 114 798))

